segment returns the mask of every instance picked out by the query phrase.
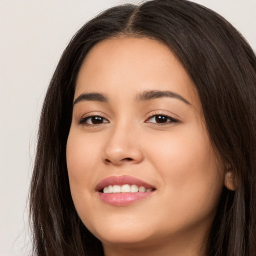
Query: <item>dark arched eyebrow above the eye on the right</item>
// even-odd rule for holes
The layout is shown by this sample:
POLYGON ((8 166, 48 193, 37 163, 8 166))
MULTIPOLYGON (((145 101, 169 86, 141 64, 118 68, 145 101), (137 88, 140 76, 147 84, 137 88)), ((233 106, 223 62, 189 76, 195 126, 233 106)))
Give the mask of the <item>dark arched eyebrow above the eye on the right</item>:
POLYGON ((171 98, 176 98, 179 99, 183 102, 185 102, 188 105, 191 105, 185 98, 183 98, 181 95, 173 92, 173 91, 169 91, 169 90, 148 90, 148 91, 144 91, 141 94, 139 94, 136 97, 137 101, 140 100, 151 100, 151 99, 155 99, 155 98, 161 98, 161 97, 171 97, 171 98))

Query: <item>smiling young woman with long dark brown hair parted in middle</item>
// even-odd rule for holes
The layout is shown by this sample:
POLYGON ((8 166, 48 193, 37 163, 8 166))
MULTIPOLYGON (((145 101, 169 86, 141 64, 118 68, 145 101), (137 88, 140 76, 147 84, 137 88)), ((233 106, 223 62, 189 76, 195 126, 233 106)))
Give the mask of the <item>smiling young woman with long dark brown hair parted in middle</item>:
POLYGON ((35 255, 254 255, 255 68, 227 21, 186 0, 86 23, 43 104, 35 255))

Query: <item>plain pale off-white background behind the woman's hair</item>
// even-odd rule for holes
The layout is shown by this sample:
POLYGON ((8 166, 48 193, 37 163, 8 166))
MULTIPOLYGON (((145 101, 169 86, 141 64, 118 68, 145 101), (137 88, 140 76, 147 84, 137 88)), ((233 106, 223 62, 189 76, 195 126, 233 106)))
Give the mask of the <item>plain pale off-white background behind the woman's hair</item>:
MULTIPOLYGON (((256 0, 194 0, 256 50, 256 0)), ((0 0, 0 255, 28 255, 27 194, 40 108, 61 52, 102 9, 138 0, 0 0)))

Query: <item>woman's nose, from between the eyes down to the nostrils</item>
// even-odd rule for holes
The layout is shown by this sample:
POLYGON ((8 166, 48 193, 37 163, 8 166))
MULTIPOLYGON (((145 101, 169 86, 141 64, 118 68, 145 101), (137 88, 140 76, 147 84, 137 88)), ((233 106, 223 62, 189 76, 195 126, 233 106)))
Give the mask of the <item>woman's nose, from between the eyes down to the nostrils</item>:
POLYGON ((141 162, 143 152, 136 129, 130 125, 119 125, 109 131, 109 137, 102 152, 102 160, 105 164, 113 165, 141 162))

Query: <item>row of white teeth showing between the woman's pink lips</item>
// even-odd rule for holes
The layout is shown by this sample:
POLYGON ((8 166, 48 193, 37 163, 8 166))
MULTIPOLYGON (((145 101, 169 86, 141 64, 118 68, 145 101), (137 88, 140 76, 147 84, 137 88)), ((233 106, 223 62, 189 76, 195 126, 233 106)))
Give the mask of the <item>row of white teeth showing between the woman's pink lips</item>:
POLYGON ((146 188, 136 184, 123 184, 123 185, 108 185, 100 190, 102 193, 136 193, 136 192, 151 192, 154 188, 146 188))

